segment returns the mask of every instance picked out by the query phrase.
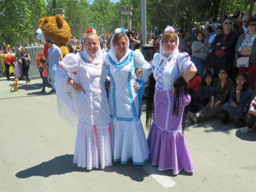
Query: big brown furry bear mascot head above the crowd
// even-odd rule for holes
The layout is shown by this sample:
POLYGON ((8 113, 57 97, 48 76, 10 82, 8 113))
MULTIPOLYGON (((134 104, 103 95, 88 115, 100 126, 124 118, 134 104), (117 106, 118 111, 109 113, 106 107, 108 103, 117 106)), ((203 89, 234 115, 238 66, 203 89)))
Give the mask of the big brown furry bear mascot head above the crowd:
POLYGON ((62 52, 63 57, 69 53, 66 43, 69 41, 71 32, 67 22, 60 14, 47 16, 40 19, 39 28, 35 32, 36 38, 44 43, 44 56, 48 56, 46 40, 52 38, 62 52))

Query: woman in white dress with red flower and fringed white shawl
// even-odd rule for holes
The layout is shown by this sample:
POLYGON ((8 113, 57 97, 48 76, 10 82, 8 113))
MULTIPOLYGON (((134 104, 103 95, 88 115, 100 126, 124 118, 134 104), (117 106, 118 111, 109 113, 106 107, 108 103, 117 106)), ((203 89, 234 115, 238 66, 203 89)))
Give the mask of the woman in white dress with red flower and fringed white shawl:
POLYGON ((59 100, 64 97, 63 94, 67 94, 67 98, 62 99, 66 101, 58 104, 58 108, 65 104, 74 108, 75 104, 68 102, 76 97, 75 93, 68 90, 63 93, 61 88, 65 89, 68 84, 78 92, 78 128, 73 162, 90 170, 93 167, 98 168, 99 164, 101 168, 112 165, 111 128, 105 91, 107 68, 103 64, 98 36, 94 29, 86 31, 83 43, 84 51, 69 53, 59 62, 56 93, 59 100), (73 75, 74 72, 76 75, 73 75))

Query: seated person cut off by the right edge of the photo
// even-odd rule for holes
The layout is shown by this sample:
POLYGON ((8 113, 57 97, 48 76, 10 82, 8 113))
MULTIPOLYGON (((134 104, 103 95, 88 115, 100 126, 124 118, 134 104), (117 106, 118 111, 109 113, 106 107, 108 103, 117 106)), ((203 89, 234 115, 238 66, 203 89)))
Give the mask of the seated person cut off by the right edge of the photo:
POLYGON ((253 130, 253 124, 256 122, 256 96, 253 98, 253 100, 250 103, 250 108, 247 115, 249 116, 247 121, 247 126, 244 126, 241 129, 242 133, 246 133, 248 131, 253 130))

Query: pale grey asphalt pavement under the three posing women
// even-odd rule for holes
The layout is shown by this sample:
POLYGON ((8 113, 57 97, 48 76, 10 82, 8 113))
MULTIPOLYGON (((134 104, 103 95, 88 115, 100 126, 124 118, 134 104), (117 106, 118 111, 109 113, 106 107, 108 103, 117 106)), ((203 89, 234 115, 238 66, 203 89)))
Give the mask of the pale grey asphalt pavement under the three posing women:
POLYGON ((20 81, 17 92, 12 82, 0 78, 0 191, 256 191, 256 130, 243 134, 218 117, 187 119, 193 173, 149 162, 88 171, 72 163, 76 130, 58 116, 56 95, 40 93, 41 79, 20 81))

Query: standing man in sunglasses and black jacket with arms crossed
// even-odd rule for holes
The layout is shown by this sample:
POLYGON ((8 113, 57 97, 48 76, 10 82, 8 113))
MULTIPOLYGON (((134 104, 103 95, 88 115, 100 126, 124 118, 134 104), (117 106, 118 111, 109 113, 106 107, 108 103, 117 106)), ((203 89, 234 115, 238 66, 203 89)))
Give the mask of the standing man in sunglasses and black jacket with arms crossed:
POLYGON ((218 77, 217 71, 222 67, 227 67, 230 71, 230 77, 232 77, 234 46, 236 41, 237 35, 232 32, 231 18, 225 18, 223 21, 223 32, 216 35, 210 46, 212 51, 214 51, 214 77, 218 77))

